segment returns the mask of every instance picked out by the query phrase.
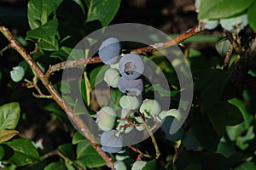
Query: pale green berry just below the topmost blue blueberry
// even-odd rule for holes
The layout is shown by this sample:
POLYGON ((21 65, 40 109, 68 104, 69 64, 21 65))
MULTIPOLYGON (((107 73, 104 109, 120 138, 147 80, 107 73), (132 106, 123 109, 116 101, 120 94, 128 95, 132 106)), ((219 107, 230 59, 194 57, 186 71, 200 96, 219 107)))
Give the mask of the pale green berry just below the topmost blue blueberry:
POLYGON ((104 81, 112 88, 118 88, 119 78, 119 71, 113 68, 109 68, 104 75, 104 81))

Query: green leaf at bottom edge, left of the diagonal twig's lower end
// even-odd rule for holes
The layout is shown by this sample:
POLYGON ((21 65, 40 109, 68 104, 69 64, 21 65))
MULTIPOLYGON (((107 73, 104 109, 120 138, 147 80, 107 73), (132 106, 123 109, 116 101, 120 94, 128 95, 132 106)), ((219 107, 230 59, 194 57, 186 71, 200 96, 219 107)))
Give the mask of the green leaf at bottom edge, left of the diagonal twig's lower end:
POLYGON ((91 146, 87 139, 79 142, 77 146, 77 161, 74 161, 79 167, 102 167, 106 165, 106 162, 91 146))

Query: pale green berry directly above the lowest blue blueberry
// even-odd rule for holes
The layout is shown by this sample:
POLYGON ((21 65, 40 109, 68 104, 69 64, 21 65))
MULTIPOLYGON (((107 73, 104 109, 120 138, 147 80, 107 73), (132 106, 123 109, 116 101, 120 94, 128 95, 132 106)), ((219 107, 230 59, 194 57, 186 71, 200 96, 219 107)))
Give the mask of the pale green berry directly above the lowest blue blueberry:
POLYGON ((97 112, 96 122, 98 127, 103 131, 109 131, 114 127, 116 113, 111 107, 102 107, 100 111, 97 112))

